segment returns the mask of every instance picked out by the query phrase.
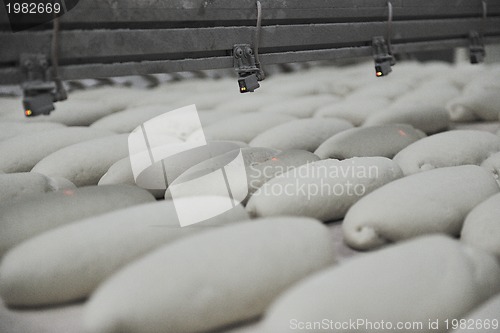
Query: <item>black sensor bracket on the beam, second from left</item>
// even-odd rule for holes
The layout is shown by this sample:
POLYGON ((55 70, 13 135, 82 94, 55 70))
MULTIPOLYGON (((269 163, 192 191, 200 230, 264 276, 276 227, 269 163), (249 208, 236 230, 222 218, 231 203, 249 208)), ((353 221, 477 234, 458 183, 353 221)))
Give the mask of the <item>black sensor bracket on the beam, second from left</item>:
POLYGON ((236 44, 233 47, 234 69, 238 73, 241 93, 253 92, 262 80, 261 69, 257 67, 255 55, 249 44, 236 44))

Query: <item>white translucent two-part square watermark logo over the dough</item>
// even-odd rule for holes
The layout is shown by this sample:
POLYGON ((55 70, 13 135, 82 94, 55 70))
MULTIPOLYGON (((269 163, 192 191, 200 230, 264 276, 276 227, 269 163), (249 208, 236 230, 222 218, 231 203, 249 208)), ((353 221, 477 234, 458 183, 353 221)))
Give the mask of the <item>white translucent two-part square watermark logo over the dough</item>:
POLYGON ((128 147, 136 184, 149 190, 168 188, 181 226, 220 215, 241 203, 248 194, 241 151, 224 165, 195 172, 183 182, 172 182, 178 176, 178 162, 183 153, 196 150, 196 154, 211 156, 195 105, 165 112, 138 126, 128 137, 128 147), (227 200, 217 207, 207 206, 206 196, 210 195, 227 200), (190 200, 179 200, 186 196, 190 200))

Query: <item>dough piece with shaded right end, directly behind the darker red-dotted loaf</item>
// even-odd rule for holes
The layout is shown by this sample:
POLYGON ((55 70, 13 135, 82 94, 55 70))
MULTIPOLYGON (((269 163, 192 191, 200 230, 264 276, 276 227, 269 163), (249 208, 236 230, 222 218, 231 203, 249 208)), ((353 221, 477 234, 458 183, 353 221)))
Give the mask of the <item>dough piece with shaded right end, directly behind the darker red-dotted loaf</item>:
POLYGON ((411 103, 404 107, 391 106, 387 110, 376 112, 366 118, 363 126, 385 124, 407 124, 426 134, 433 134, 446 130, 450 125, 450 117, 444 107, 411 103))

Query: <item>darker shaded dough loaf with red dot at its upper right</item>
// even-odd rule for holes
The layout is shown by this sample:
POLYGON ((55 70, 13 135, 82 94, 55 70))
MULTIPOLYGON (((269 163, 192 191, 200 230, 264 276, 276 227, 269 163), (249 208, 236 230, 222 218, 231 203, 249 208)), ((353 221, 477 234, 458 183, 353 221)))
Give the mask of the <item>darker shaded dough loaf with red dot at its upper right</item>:
POLYGON ((314 152, 321 159, 383 156, 393 158, 399 151, 425 137, 410 125, 380 125, 352 128, 332 136, 314 152))

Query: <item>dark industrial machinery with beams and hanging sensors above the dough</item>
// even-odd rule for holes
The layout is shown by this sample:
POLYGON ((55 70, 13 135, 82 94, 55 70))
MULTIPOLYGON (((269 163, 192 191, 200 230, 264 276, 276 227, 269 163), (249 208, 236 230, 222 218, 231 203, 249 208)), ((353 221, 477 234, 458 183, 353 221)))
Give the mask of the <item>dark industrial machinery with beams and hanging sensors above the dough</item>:
POLYGON ((500 0, 56 2, 64 15, 17 32, 0 8, 0 84, 23 84, 27 116, 65 98, 61 80, 233 67, 252 92, 267 64, 372 55, 384 76, 398 54, 468 47, 478 63, 500 42, 500 0))

